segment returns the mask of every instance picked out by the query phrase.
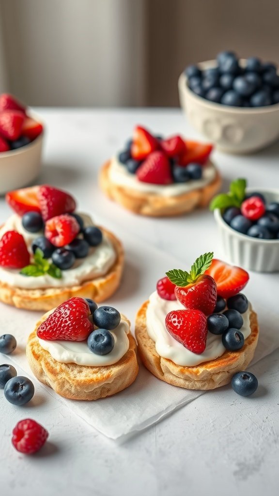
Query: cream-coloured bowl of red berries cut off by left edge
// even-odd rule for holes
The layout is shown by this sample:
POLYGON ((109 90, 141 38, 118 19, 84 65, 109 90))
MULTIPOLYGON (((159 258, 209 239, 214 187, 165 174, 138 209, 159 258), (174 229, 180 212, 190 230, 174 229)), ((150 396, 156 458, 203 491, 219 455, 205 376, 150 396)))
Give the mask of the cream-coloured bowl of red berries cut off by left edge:
POLYGON ((0 95, 0 194, 27 186, 41 166, 43 124, 16 98, 0 95))

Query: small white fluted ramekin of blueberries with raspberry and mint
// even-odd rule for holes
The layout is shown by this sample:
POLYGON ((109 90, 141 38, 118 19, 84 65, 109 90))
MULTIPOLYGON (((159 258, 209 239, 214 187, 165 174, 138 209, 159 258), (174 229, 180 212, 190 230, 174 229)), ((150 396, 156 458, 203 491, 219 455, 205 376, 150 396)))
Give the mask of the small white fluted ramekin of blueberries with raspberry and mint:
POLYGON ((246 181, 237 179, 210 208, 231 263, 256 272, 279 271, 279 189, 246 188, 246 181))

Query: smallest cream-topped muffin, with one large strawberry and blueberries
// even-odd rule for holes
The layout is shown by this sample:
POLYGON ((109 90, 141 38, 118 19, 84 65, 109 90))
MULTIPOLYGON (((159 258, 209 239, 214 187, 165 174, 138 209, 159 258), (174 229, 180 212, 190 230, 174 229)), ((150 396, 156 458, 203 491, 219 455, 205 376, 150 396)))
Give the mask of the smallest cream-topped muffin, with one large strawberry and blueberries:
POLYGON ((139 372, 136 348, 125 315, 73 297, 42 316, 26 354, 37 379, 61 396, 96 400, 134 382, 139 372))

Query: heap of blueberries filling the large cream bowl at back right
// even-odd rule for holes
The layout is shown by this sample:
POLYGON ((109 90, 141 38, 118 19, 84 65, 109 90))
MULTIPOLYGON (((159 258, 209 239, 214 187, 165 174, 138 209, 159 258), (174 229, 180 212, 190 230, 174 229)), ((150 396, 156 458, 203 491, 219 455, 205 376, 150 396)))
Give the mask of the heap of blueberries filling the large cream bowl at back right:
POLYGON ((279 104, 277 66, 257 57, 239 60, 234 52, 217 55, 211 67, 189 65, 188 87, 206 100, 231 107, 266 107, 279 104), (213 66, 214 65, 214 66, 213 66))

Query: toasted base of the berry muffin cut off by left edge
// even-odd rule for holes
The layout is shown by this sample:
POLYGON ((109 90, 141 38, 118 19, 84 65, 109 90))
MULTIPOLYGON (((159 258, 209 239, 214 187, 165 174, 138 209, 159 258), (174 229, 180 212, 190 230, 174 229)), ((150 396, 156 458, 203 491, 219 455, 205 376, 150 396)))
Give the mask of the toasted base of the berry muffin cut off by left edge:
POLYGON ((73 296, 91 298, 97 303, 107 300, 117 290, 124 266, 124 249, 121 242, 103 227, 103 233, 116 251, 116 261, 107 274, 84 281, 79 286, 61 288, 24 289, 0 282, 0 301, 25 310, 52 310, 73 296))

